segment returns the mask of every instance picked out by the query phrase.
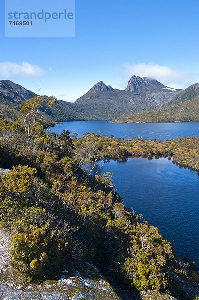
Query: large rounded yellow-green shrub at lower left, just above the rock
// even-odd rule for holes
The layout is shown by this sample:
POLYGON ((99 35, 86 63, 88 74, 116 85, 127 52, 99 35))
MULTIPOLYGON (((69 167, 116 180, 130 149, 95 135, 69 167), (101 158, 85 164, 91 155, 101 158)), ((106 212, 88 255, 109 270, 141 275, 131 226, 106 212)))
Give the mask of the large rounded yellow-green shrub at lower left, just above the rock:
POLYGON ((11 263, 25 280, 53 276, 66 263, 67 240, 45 209, 28 208, 13 224, 11 263))

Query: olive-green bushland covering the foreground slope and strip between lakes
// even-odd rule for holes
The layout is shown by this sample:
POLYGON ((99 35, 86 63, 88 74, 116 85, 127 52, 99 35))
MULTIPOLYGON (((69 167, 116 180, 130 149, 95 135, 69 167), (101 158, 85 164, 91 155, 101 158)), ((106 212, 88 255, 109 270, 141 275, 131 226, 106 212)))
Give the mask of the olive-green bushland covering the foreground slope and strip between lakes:
POLYGON ((180 159, 188 143, 187 163, 198 157, 197 138, 156 142, 87 134, 72 140, 68 131, 30 136, 18 123, 1 120, 0 167, 14 167, 0 175, 0 226, 11 232, 19 278, 52 278, 64 265, 88 261, 129 287, 169 291, 171 273, 187 272, 178 268, 169 242, 121 204, 110 173, 90 174, 99 159, 121 155, 180 159))

